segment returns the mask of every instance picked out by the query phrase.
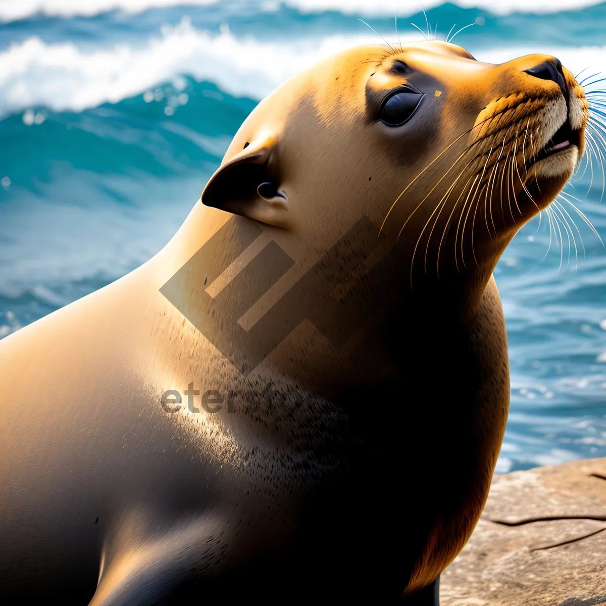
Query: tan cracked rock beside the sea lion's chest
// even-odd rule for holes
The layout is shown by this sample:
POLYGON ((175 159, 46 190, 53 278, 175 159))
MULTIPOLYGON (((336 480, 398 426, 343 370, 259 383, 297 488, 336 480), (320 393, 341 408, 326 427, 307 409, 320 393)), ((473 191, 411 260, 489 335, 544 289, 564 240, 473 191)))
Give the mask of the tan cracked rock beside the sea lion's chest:
POLYGON ((442 606, 606 605, 606 458, 494 476, 442 606))

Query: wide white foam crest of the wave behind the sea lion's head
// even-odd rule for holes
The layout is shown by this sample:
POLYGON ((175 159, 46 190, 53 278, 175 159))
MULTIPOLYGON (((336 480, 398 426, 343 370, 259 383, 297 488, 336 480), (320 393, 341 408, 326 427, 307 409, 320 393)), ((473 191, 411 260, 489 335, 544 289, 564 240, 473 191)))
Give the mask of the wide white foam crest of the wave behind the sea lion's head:
MULTIPOLYGON (((419 36, 401 33, 402 42, 419 36)), ((227 29, 211 35, 185 19, 176 27, 165 27, 161 36, 142 47, 86 50, 70 42, 46 44, 30 38, 0 53, 0 115, 36 106, 80 111, 145 92, 150 98, 150 88, 179 74, 213 81, 233 95, 260 99, 319 59, 348 46, 378 42, 370 31, 288 43, 259 42, 237 39, 227 29)), ((574 73, 585 67, 599 72, 606 64, 606 47, 471 50, 479 60, 494 63, 530 53, 549 53, 558 56, 574 73)), ((36 115, 30 112, 26 117, 35 119, 36 115)))

